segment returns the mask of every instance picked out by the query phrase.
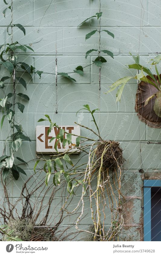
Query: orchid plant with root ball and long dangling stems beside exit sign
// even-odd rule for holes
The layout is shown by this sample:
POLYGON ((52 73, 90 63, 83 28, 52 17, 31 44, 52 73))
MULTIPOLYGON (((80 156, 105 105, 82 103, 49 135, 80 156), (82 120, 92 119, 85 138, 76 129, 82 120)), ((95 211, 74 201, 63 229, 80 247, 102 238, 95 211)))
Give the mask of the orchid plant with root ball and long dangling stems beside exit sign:
MULTIPOLYGON (((122 213, 123 197, 121 194, 121 168, 124 164, 124 158, 122 156, 123 151, 118 142, 105 141, 101 138, 100 131, 94 117, 94 113, 98 109, 91 110, 88 104, 83 105, 83 109, 92 115, 92 121, 95 123, 97 133, 91 128, 85 127, 84 125, 76 122, 75 123, 80 127, 92 131, 92 133, 97 136, 97 139, 68 133, 56 125, 56 123, 53 123, 48 115, 45 115, 50 122, 48 134, 52 137, 53 127, 60 130, 56 137, 52 137, 50 139, 50 142, 56 139, 55 149, 57 151, 57 155, 52 155, 49 160, 37 156, 39 159, 35 163, 34 171, 38 163, 40 161, 44 161, 43 170, 46 173, 46 185, 48 185, 51 176, 53 176, 53 184, 57 187, 60 185, 64 176, 67 191, 70 196, 75 195, 76 188, 82 186, 82 196, 76 208, 72 212, 69 212, 66 209, 66 202, 68 201, 69 196, 62 207, 62 209, 65 209, 69 214, 72 214, 78 209, 80 204, 82 204, 82 212, 76 222, 76 229, 78 230, 81 230, 79 229, 79 222, 84 215, 84 197, 87 191, 89 191, 91 217, 95 230, 93 233, 94 240, 97 240, 98 238, 100 241, 115 240, 118 239, 119 232, 122 230, 122 226, 124 224, 122 213), (72 136, 77 137, 76 145, 72 144, 72 136), (74 165, 70 158, 70 155, 72 154, 71 148, 66 150, 64 153, 59 153, 57 150, 58 143, 63 144, 64 148, 66 147, 66 144, 69 144, 72 146, 72 150, 79 149, 82 153, 80 159, 87 156, 88 162, 80 165, 74 165), (95 180, 97 180, 96 188, 93 185, 95 180), (111 181, 113 182, 115 191, 112 188, 111 181), (101 216, 100 211, 101 204, 103 204, 103 217, 101 216), (94 205, 96 205, 95 210, 94 205), (106 232, 104 227, 105 212, 109 208, 111 209, 111 227, 106 232), (104 218, 103 224, 101 223, 102 218, 104 218)), ((47 119, 40 119, 38 122, 42 122, 47 119)))

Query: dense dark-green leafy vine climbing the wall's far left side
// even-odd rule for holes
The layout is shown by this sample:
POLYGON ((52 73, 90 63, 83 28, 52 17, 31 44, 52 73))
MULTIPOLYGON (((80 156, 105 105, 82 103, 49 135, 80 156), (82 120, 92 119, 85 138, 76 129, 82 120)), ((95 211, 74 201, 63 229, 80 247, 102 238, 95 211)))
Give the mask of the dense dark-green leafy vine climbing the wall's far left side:
POLYGON ((17 92, 17 84, 21 84, 25 90, 27 90, 27 83, 23 78, 24 73, 27 73, 30 79, 32 80, 35 74, 41 77, 43 71, 35 71, 35 68, 31 65, 29 66, 25 62, 19 62, 19 52, 26 52, 27 49, 30 51, 34 50, 28 45, 21 45, 18 41, 13 42, 13 28, 18 27, 25 36, 25 28, 21 24, 13 24, 13 1, 11 0, 11 4, 9 5, 5 0, 3 0, 5 5, 7 6, 3 15, 8 10, 11 11, 11 22, 7 26, 7 33, 11 35, 11 43, 3 44, 0 46, 0 71, 2 71, 1 80, 0 80, 0 89, 2 92, 2 96, 0 99, 0 106, 2 107, 2 119, 1 119, 1 129, 3 128, 3 122, 5 119, 8 120, 10 124, 10 131, 4 143, 3 155, 0 157, 0 168, 2 169, 2 177, 5 180, 10 171, 12 172, 13 177, 17 180, 19 178, 20 173, 26 175, 24 170, 16 165, 15 160, 27 164, 20 157, 15 157, 14 153, 18 151, 18 149, 22 145, 22 141, 31 141, 28 136, 26 136, 25 131, 22 128, 22 125, 15 120, 15 112, 20 111, 23 113, 24 105, 22 104, 22 100, 29 101, 29 97, 24 93, 17 92), (11 32, 9 32, 11 30, 11 32), (17 73, 21 72, 21 76, 17 76, 17 73), (7 75, 4 76, 4 74, 7 75), (8 81, 8 83, 6 83, 8 81), (11 92, 7 95, 5 94, 4 87, 10 87, 10 83, 12 84, 11 92))

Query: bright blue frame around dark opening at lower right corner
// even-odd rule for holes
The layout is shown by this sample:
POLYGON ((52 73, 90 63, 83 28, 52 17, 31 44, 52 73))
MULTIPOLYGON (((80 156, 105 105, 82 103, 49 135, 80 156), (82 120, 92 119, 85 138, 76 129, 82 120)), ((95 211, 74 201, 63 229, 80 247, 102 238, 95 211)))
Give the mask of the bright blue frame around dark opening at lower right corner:
MULTIPOLYGON (((152 189, 161 188, 161 180, 144 180, 144 241, 152 240, 151 229, 151 197, 152 189)), ((161 204, 161 202, 160 202, 161 204)), ((161 241, 161 240, 159 240, 161 241)))

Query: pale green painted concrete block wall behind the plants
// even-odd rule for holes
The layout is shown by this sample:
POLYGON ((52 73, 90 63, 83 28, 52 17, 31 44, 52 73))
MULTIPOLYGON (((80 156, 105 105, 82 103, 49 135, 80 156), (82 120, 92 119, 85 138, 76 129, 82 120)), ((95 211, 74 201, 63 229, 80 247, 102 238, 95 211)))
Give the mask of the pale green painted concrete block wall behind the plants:
MULTIPOLYGON (((98 0, 64 0, 51 3, 50 8, 46 11, 51 0, 29 0, 27 2, 21 0, 13 1, 13 20, 14 24, 20 23, 26 29, 26 36, 22 31, 14 28, 13 40, 21 44, 31 43, 35 53, 27 51, 21 54, 21 59, 32 64, 38 70, 54 73, 55 71, 55 46, 57 37, 58 52, 58 71, 72 72, 78 65, 86 66, 94 60, 93 54, 89 55, 85 60, 85 52, 89 49, 98 49, 99 38, 95 34, 89 40, 85 41, 85 34, 93 30, 92 27, 98 27, 96 19, 77 28, 78 24, 87 17, 92 16, 99 11, 98 0), (46 11, 46 13, 45 13, 46 11), (56 14, 57 12, 57 14, 56 14), (44 15, 45 13, 45 15, 44 15), (43 16, 44 15, 44 16, 43 16), (91 26, 91 27, 89 27, 91 26), (56 32, 57 31, 57 32, 56 32), (37 42, 37 43, 35 43, 37 42)), ((104 94, 108 87, 117 79, 134 74, 132 70, 128 70, 126 65, 132 64, 133 60, 129 56, 129 51, 136 54, 139 51, 140 44, 140 63, 149 65, 149 61, 156 52, 161 52, 161 7, 160 0, 143 0, 143 8, 141 8, 140 0, 101 0, 101 11, 103 11, 101 26, 114 33, 115 38, 112 39, 106 33, 102 33, 101 48, 114 52, 114 59, 107 57, 107 63, 101 70, 101 106, 100 117, 96 114, 96 119, 101 125, 101 135, 106 139, 116 139, 121 142, 124 149, 124 158, 127 160, 124 166, 124 174, 122 177, 123 194, 126 198, 126 225, 124 229, 131 236, 132 240, 141 240, 143 235, 142 229, 142 174, 140 169, 140 145, 139 145, 139 129, 140 139, 146 141, 161 141, 160 129, 152 129, 142 122, 138 122, 137 115, 134 111, 135 94, 137 84, 130 81, 125 86, 121 103, 116 103, 115 91, 104 94), (142 14, 142 16, 141 16, 142 14), (142 17, 142 18, 141 18, 142 17), (140 42, 139 42, 140 38, 140 42)), ((0 3, 0 10, 5 8, 3 1, 0 3)), ((0 44, 10 43, 11 36, 8 36, 6 26, 10 23, 10 14, 6 15, 6 19, 1 14, 0 22, 0 44)), ((7 72, 1 69, 0 77, 7 75, 7 72)), ((58 79, 58 114, 55 109, 55 76, 43 74, 42 78, 34 77, 33 83, 27 78, 27 95, 30 97, 29 102, 24 102, 24 114, 16 113, 21 120, 21 124, 31 138, 32 142, 24 142, 17 155, 30 161, 36 156, 36 125, 37 120, 43 118, 44 114, 49 114, 53 121, 59 124, 73 125, 74 121, 94 128, 90 116, 86 112, 82 112, 76 117, 76 111, 83 104, 88 103, 91 108, 98 107, 99 90, 98 90, 98 67, 95 65, 84 69, 84 75, 81 77, 77 74, 72 75, 76 79, 76 83, 59 77, 58 79)), ((9 84, 6 93, 11 91, 12 85, 9 84)), ((17 89, 24 92, 21 85, 17 89)), ((48 124, 48 123, 44 123, 48 124)), ((43 125, 43 123, 42 123, 43 125)), ((95 129, 95 128, 94 128, 95 129)), ((8 122, 4 123, 4 128, 0 133, 0 151, 2 153, 2 145, 9 131, 8 122)), ((81 129, 81 134, 92 136, 89 131, 81 129)), ((160 164, 160 146, 155 144, 141 144, 142 159, 145 172, 158 173, 161 170, 160 164)), ((78 156, 73 156, 73 161, 78 156)), ((22 165, 23 166, 23 165, 22 165)), ((29 162, 28 167, 23 166, 27 171, 27 177, 33 174, 34 162, 29 162)), ((43 174, 41 174, 43 177, 43 174)), ((27 178, 21 176, 18 181, 11 181, 10 195, 18 198, 21 186, 27 178), (13 187, 13 190, 12 190, 13 187)), ((37 177, 34 176, 33 179, 37 177)), ((56 203, 58 208, 61 205, 61 188, 57 191, 56 203)), ((80 192, 80 191, 79 191, 80 192)), ((3 198, 2 187, 0 195, 3 198)), ((65 195, 64 195, 65 197, 65 195)), ((79 194, 73 199, 71 206, 74 208, 79 200, 79 194)), ((89 201, 86 198, 87 216, 81 222, 82 229, 88 229, 92 220, 88 215, 89 201)), ((57 209, 56 209, 57 211, 57 209)), ((109 214, 110 215, 110 214, 109 214)), ((110 217, 106 218, 107 227, 110 225, 110 217)), ((66 219, 63 226, 70 223, 72 232, 76 232, 74 221, 66 219)), ((62 227, 63 228, 63 227, 62 227)), ((67 231, 68 232, 68 231, 67 231)), ((70 233, 70 232, 69 232, 70 233)), ((85 239, 85 233, 79 233, 77 240, 85 239)))

